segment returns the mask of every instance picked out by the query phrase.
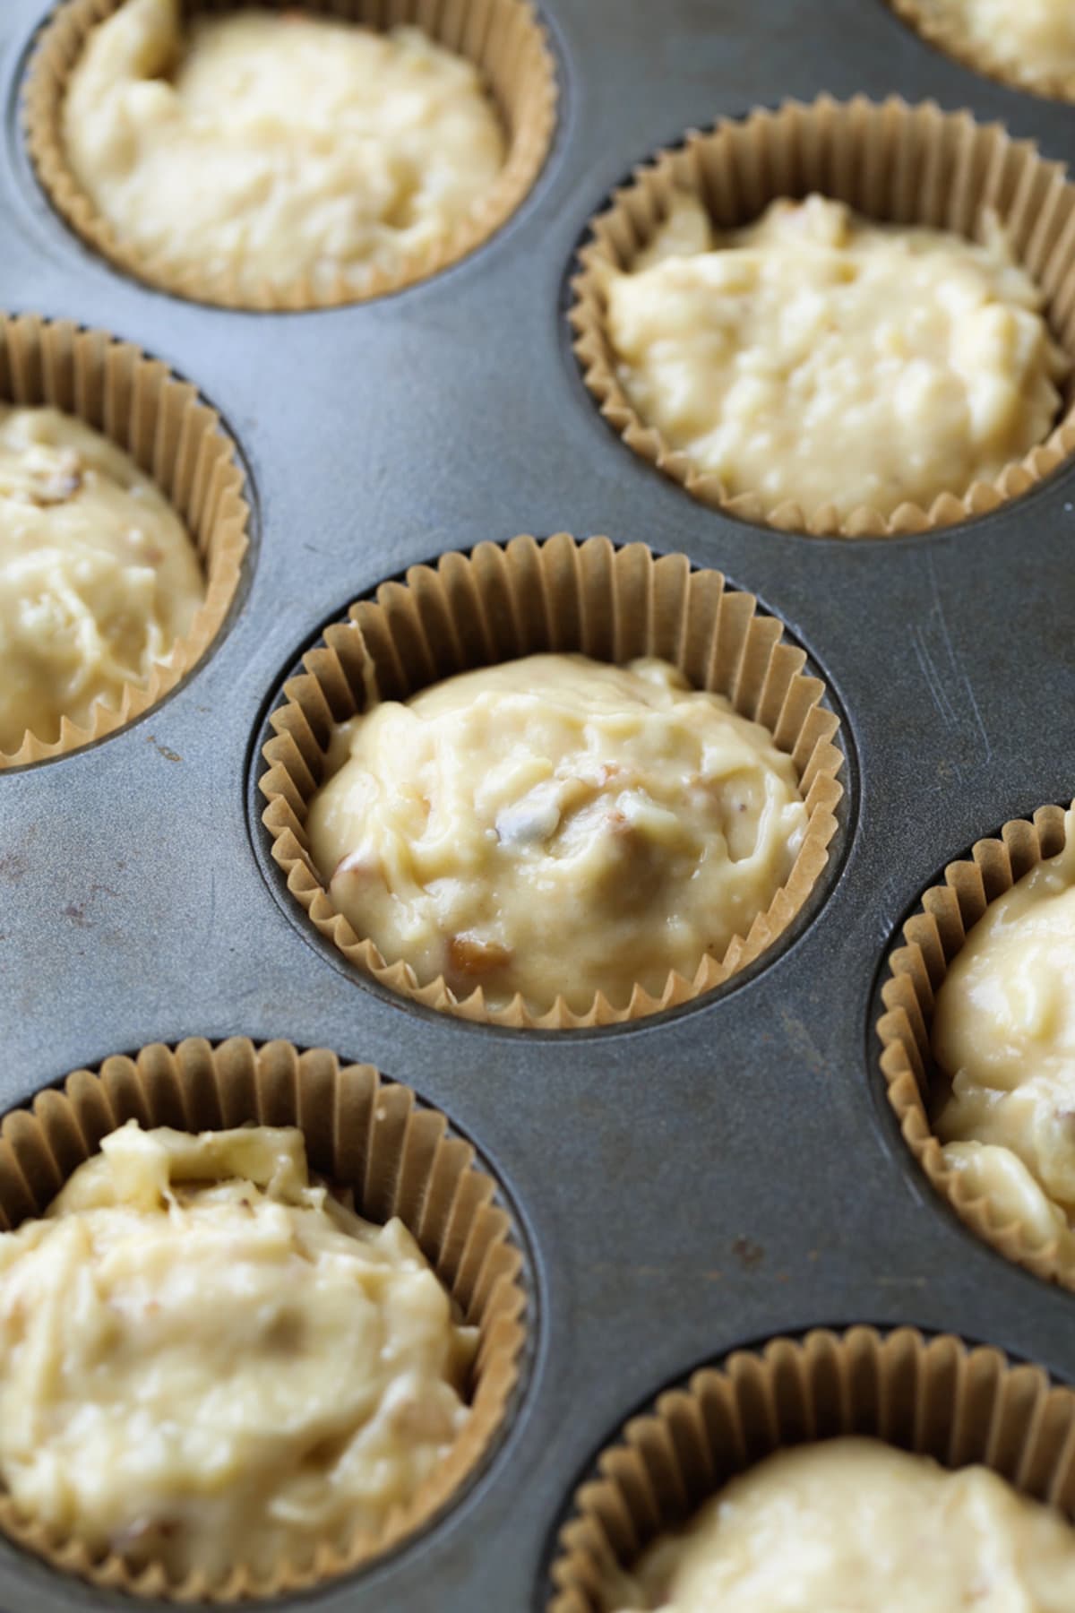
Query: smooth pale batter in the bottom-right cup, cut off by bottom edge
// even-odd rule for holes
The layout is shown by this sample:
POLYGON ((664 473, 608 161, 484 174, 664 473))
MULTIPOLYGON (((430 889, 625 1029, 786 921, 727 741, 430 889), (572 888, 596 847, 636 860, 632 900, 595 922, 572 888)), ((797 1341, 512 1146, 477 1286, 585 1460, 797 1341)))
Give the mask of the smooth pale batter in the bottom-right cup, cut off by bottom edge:
POLYGON ((1070 1613, 1075 1529, 986 1468, 835 1439, 733 1479, 622 1598, 622 1613, 1070 1613))

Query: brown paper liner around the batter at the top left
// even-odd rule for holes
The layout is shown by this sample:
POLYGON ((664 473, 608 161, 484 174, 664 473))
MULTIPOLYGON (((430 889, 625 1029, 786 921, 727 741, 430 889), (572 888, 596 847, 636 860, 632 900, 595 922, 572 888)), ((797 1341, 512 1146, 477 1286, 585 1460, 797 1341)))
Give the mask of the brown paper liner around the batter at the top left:
POLYGON ((530 0, 184 0, 184 10, 229 11, 242 5, 301 5, 367 27, 413 24, 482 73, 506 127, 506 161, 474 211, 437 242, 395 268, 371 268, 356 289, 340 274, 330 286, 306 281, 280 289, 242 287, 229 273, 208 277, 197 268, 169 263, 168 248, 150 255, 121 240, 79 187, 63 144, 63 100, 71 69, 90 29, 122 0, 66 0, 40 34, 23 95, 23 124, 37 177, 56 211, 118 269, 135 279, 221 308, 301 310, 366 302, 429 279, 458 263, 493 235, 533 185, 556 124, 556 69, 543 26, 530 0))

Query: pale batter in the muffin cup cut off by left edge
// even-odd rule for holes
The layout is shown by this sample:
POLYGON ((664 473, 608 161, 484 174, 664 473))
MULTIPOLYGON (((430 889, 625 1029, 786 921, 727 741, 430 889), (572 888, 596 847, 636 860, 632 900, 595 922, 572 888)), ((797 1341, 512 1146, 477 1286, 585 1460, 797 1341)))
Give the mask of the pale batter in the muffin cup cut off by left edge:
POLYGON ((182 521, 127 453, 56 410, 0 403, 0 750, 145 687, 203 597, 182 521))

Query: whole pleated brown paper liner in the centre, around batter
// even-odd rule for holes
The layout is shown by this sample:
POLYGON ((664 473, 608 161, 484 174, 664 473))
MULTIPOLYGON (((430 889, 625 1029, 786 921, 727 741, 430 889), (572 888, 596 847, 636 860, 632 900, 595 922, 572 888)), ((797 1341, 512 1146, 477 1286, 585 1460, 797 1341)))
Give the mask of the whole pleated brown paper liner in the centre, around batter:
POLYGON ((788 927, 828 861, 845 758, 833 742, 838 718, 820 705, 824 684, 803 673, 804 663, 806 653, 782 642, 780 623, 757 613, 753 595, 727 589, 719 571, 691 571, 683 555, 656 558, 643 544, 617 550, 608 537, 579 544, 566 532, 545 544, 516 537, 506 547, 479 544, 469 556, 448 553, 435 571, 413 566, 406 584, 385 582, 376 598, 351 605, 347 621, 326 629, 324 645, 303 656, 305 674, 284 686, 259 779, 272 857, 321 936, 374 979, 429 1008, 540 1029, 658 1013, 753 963, 788 927), (704 957, 693 979, 670 973, 659 997, 637 984, 625 1008, 600 994, 587 1013, 574 1013, 562 997, 548 1011, 532 1011, 522 997, 493 1008, 480 987, 458 998, 443 977, 422 984, 408 963, 387 965, 371 940, 355 934, 309 855, 306 810, 326 777, 334 724, 379 698, 405 700, 453 673, 540 650, 579 650, 617 663, 662 656, 696 689, 727 695, 741 716, 762 723, 799 769, 807 831, 769 910, 722 958, 704 957))

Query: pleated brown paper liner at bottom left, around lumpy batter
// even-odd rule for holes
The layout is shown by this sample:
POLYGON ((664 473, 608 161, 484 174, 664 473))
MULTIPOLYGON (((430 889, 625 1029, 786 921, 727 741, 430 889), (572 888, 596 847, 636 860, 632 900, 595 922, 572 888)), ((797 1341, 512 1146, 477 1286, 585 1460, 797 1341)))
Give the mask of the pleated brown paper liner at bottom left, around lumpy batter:
POLYGON ((177 1602, 237 1602, 277 1595, 348 1573, 427 1524, 487 1453, 521 1378, 527 1336, 522 1253, 496 1184, 469 1142, 448 1132, 437 1110, 371 1065, 342 1065, 324 1048, 290 1042, 255 1047, 240 1037, 213 1047, 200 1039, 174 1050, 155 1044, 137 1058, 106 1058, 98 1073, 76 1069, 61 1087, 39 1092, 0 1127, 0 1226, 40 1215, 100 1139, 127 1119, 142 1126, 219 1131, 247 1123, 298 1126, 309 1166, 350 1189, 367 1219, 392 1216, 417 1239, 463 1319, 480 1329, 471 1416, 454 1447, 406 1508, 379 1536, 358 1534, 345 1552, 327 1542, 313 1563, 280 1563, 268 1579, 237 1563, 218 1584, 201 1574, 171 1582, 161 1565, 137 1569, 121 1555, 97 1558, 24 1518, 0 1490, 0 1528, 55 1568, 97 1586, 177 1602))

